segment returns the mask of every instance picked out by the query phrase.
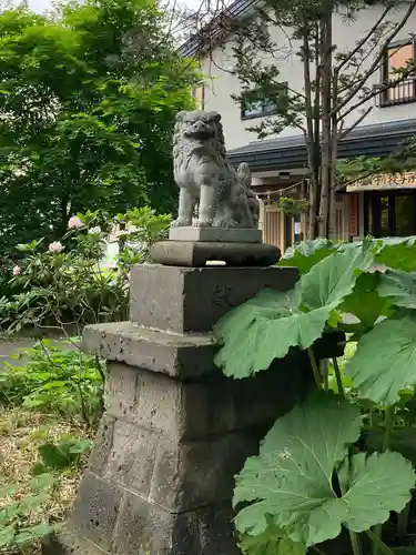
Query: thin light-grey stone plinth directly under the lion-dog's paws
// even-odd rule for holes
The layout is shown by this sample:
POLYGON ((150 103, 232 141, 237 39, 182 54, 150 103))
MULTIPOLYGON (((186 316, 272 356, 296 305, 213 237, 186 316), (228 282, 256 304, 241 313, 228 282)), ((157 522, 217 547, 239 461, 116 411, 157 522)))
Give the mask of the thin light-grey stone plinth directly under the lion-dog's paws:
POLYGON ((170 241, 203 241, 204 243, 261 243, 262 230, 243 228, 171 228, 170 241))

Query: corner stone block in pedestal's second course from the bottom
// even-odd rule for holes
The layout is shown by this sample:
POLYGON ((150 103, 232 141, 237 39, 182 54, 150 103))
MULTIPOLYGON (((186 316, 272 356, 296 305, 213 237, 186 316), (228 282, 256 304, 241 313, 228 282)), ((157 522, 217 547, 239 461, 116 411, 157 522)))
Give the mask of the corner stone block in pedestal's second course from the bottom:
POLYGON ((161 442, 149 501, 170 512, 184 512, 231 500, 234 475, 257 448, 258 438, 250 432, 204 442, 161 442))

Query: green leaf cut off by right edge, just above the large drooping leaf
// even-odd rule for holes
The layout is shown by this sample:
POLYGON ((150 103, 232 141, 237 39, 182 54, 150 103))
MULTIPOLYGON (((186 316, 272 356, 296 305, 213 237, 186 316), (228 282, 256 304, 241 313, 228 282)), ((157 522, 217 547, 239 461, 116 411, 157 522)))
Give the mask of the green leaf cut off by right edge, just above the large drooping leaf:
POLYGON ((416 272, 387 270, 379 278, 378 293, 396 306, 416 309, 416 272))

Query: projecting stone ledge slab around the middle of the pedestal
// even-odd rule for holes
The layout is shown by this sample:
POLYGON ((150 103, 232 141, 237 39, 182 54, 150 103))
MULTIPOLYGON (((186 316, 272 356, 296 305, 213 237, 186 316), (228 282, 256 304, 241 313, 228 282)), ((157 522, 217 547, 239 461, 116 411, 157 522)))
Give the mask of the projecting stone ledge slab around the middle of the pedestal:
POLYGON ((88 325, 82 334, 82 347, 109 361, 124 362, 181 380, 215 369, 210 335, 176 335, 146 330, 131 322, 88 325))

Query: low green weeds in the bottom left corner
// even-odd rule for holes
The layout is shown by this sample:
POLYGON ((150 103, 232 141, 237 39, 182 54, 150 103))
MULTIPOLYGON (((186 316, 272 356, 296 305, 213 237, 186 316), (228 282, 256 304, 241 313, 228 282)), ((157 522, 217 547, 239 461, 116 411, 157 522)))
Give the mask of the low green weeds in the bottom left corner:
POLYGON ((53 477, 41 474, 30 481, 30 494, 21 497, 19 490, 0 490, 0 552, 21 549, 34 539, 49 534, 53 527, 48 522, 27 526, 24 521, 48 501, 53 487, 53 477), (23 524, 22 524, 23 523, 23 524))

